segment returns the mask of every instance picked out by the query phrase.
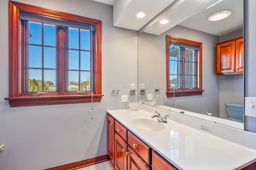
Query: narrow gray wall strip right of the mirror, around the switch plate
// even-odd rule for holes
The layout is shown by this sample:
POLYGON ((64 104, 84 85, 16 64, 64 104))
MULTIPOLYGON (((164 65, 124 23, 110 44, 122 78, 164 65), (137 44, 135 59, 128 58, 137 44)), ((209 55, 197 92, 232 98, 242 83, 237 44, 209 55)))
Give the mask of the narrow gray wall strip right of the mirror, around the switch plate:
MULTIPOLYGON (((245 0, 245 74, 244 95, 245 97, 256 97, 255 76, 255 45, 256 45, 256 1, 245 0)), ((245 129, 256 133, 256 117, 245 116, 245 129)))

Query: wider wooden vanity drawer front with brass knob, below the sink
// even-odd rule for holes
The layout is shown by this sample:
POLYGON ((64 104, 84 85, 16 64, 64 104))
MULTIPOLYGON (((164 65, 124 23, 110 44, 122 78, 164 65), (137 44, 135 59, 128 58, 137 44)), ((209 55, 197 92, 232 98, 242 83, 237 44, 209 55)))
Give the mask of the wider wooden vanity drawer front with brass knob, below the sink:
POLYGON ((150 147, 128 131, 128 145, 149 165, 150 147))

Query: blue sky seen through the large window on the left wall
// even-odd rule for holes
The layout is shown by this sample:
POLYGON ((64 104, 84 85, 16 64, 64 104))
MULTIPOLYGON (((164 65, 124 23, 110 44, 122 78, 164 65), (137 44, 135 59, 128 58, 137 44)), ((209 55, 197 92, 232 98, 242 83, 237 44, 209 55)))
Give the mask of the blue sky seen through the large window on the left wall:
MULTIPOLYGON (((42 67, 44 67, 44 81, 52 81, 56 84, 56 26, 29 22, 29 78, 42 80, 42 67), (43 25, 43 27, 42 27, 43 25), (43 37, 42 37, 43 35, 43 37), (42 46, 42 41, 43 45, 42 46), (43 48, 43 55, 42 55, 43 48), (43 57, 43 61, 42 61, 43 57), (43 62, 43 63, 42 63, 43 62), (44 66, 43 66, 44 65, 44 66), (32 69, 34 68, 34 69, 32 69), (37 69, 35 69, 37 68, 37 69)), ((90 79, 90 31, 84 29, 68 29, 69 40, 69 82, 79 82, 79 67, 80 67, 80 82, 90 79), (79 42, 80 33, 80 42, 79 42), (79 45, 81 50, 78 51, 79 45), (74 49, 74 50, 72 50, 74 49), (80 53, 80 60, 79 60, 80 53), (80 66, 79 66, 80 61, 80 66), (76 71, 77 70, 77 71, 76 71)))

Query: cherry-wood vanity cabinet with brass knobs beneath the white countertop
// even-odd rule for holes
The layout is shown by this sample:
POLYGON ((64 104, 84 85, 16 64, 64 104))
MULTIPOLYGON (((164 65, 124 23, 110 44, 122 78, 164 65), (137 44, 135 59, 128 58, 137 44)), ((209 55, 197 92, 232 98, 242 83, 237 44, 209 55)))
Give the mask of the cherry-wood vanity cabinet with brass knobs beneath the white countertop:
POLYGON ((150 170, 153 162, 155 170, 165 170, 165 168, 156 168, 162 167, 164 159, 160 159, 161 157, 158 156, 156 157, 158 159, 154 158, 153 160, 151 150, 139 137, 108 115, 108 156, 116 170, 150 170))

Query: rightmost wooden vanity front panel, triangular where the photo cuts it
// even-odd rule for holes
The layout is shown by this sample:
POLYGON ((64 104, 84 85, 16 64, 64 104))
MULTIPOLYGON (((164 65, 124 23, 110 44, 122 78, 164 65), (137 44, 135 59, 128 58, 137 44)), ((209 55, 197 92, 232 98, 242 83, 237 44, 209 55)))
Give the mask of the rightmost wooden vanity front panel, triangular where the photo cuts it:
POLYGON ((171 163, 152 151, 152 170, 178 170, 171 163))

